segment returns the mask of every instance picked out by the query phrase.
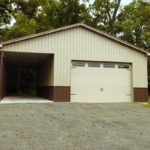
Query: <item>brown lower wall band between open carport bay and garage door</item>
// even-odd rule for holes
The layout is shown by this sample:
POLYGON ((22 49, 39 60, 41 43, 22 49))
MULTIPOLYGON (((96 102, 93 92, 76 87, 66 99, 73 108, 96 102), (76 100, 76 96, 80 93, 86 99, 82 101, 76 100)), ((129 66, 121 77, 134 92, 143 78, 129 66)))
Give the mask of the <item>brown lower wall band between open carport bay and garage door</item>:
POLYGON ((70 102, 70 86, 39 86, 37 96, 54 102, 70 102))

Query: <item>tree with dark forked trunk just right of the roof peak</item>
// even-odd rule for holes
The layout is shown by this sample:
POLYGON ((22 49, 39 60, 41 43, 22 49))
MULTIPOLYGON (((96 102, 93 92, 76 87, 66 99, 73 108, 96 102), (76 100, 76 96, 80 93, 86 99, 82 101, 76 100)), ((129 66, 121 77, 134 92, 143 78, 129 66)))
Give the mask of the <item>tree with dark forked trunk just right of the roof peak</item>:
POLYGON ((118 17, 121 0, 95 0, 91 6, 93 22, 100 30, 115 35, 115 23, 118 17))

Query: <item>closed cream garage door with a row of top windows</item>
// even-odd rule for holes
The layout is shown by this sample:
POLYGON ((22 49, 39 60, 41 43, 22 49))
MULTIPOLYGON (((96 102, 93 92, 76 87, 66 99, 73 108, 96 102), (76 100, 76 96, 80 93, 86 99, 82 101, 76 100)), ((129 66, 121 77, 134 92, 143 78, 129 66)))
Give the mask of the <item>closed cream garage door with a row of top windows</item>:
POLYGON ((72 62, 72 102, 130 102, 131 66, 72 62))

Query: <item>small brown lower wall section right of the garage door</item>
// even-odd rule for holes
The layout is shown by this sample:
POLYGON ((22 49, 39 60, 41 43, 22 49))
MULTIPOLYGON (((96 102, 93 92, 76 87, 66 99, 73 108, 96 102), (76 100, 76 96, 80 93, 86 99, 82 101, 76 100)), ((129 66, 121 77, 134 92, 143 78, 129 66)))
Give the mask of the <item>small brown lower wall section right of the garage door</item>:
POLYGON ((148 88, 134 88, 135 102, 148 102, 148 88))

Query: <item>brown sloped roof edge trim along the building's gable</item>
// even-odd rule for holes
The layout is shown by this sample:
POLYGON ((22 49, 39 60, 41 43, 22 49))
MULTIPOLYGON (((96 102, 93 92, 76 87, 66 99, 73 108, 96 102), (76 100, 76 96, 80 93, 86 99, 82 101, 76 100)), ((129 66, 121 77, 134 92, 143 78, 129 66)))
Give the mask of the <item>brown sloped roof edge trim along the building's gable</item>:
POLYGON ((73 24, 73 25, 69 25, 69 26, 65 26, 65 27, 61 27, 61 28, 57 28, 57 29, 54 29, 54 30, 49 30, 49 31, 45 31, 45 32, 41 32, 41 33, 36 33, 36 34, 32 34, 32 35, 29 35, 29 36, 24 36, 24 37, 20 37, 20 38, 16 38, 16 39, 13 39, 13 40, 9 40, 9 41, 5 41, 3 43, 0 44, 0 48, 2 48, 3 45, 7 45, 7 44, 12 44, 12 43, 16 43, 16 42, 19 42, 19 41, 23 41, 23 40, 28 40, 28 39, 32 39, 32 38, 36 38, 36 37, 40 37, 40 36, 44 36, 44 35, 48 35, 48 34, 52 34, 52 33, 56 33, 56 32, 61 32, 61 31, 64 31, 64 30, 69 30, 69 29, 72 29, 72 28, 76 28, 76 27, 82 27, 82 28, 85 28, 91 32, 94 32, 96 34, 99 34, 105 38, 108 38, 114 42, 117 42, 121 45, 124 45, 124 46, 127 46, 131 49, 134 49, 136 51, 139 51, 141 53, 144 53, 144 54, 147 54, 149 55, 149 52, 142 49, 142 48, 139 48, 135 45, 132 45, 130 43, 127 43, 127 42, 124 42, 118 38, 115 38, 113 36, 110 36, 109 34, 106 34, 102 31, 99 31, 91 26, 88 26, 86 24, 83 24, 83 23, 77 23, 77 24, 73 24))

